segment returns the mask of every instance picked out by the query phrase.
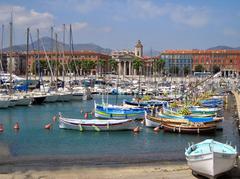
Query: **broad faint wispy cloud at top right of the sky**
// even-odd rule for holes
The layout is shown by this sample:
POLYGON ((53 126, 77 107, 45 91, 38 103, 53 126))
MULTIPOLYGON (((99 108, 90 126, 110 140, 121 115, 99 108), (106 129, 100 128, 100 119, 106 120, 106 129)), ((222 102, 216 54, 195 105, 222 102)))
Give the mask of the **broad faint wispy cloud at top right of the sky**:
MULTIPOLYGON (((127 7, 128 13, 131 14, 128 18, 148 19, 168 16, 171 21, 190 27, 203 27, 209 22, 208 10, 203 7, 182 6, 170 3, 159 5, 151 0, 128 0, 127 7)), ((122 14, 122 16, 115 15, 114 17, 113 20, 126 19, 125 14, 122 14)))

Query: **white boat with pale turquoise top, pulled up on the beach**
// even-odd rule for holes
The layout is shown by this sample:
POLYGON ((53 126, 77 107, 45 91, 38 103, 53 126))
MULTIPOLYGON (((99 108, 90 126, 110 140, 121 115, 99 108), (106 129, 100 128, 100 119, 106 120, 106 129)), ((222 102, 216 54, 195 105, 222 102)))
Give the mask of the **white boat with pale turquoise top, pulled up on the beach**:
POLYGON ((212 139, 189 145, 185 151, 188 166, 197 173, 209 178, 231 170, 237 157, 237 149, 212 139))

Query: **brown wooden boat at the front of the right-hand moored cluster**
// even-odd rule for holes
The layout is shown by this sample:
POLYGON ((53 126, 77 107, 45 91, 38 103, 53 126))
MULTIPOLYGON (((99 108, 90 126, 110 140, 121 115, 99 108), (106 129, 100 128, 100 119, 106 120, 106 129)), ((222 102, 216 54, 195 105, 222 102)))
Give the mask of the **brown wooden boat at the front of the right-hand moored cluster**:
POLYGON ((215 124, 200 124, 200 123, 189 123, 189 124, 173 124, 162 122, 161 126, 164 131, 175 132, 175 133, 189 133, 189 134, 203 134, 215 132, 217 126, 215 124))

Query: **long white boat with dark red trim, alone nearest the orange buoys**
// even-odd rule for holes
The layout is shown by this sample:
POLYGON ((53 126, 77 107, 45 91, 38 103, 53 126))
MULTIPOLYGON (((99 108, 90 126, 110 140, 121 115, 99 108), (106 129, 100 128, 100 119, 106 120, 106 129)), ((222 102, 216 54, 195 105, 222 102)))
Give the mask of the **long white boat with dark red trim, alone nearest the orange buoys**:
POLYGON ((133 130, 138 122, 133 119, 72 119, 59 115, 59 128, 79 131, 119 131, 133 130))

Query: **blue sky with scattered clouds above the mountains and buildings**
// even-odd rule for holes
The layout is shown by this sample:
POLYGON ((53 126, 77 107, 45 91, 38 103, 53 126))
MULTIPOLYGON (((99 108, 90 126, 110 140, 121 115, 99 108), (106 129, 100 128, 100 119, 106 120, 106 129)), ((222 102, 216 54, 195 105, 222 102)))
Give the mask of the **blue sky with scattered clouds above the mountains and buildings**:
MULTIPOLYGON (((14 43, 26 41, 26 28, 62 38, 62 24, 73 25, 75 43, 132 49, 140 39, 145 50, 206 49, 240 46, 238 0, 1 0, 0 24, 8 44, 10 13, 14 43)), ((68 32, 67 32, 68 33, 68 32)), ((66 37, 68 40, 68 37, 66 37)))

